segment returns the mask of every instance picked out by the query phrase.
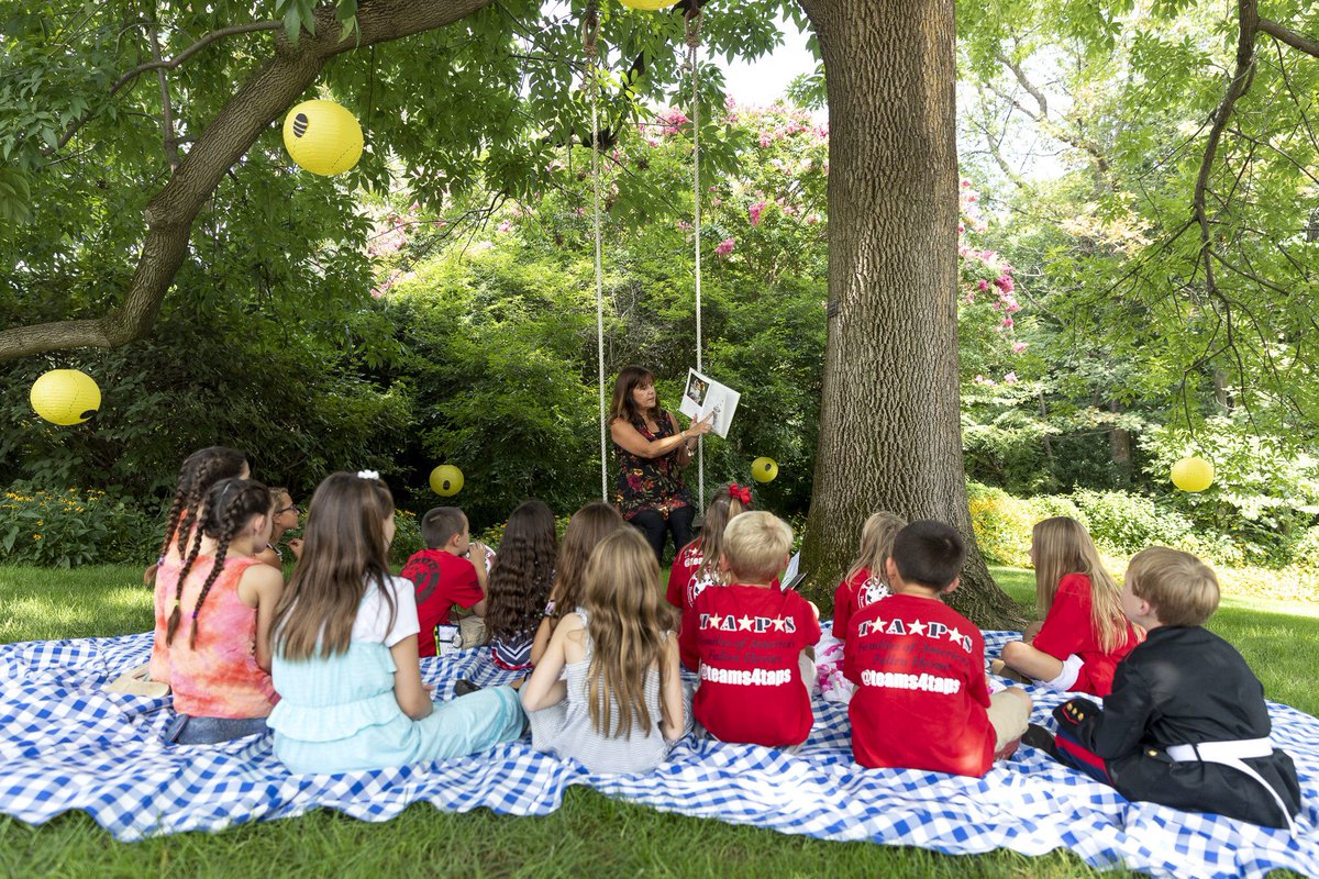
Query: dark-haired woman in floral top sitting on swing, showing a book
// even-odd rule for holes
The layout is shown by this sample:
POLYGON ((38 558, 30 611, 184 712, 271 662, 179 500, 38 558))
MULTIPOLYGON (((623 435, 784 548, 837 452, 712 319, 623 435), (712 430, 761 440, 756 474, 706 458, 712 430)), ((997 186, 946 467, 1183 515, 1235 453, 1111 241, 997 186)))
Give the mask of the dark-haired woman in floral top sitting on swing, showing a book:
POLYGON ((613 503, 645 535, 656 559, 662 560, 670 531, 674 551, 691 543, 696 507, 682 468, 691 463, 696 439, 710 432, 712 419, 708 415, 678 430, 673 412, 660 407, 654 374, 641 366, 625 366, 613 382, 609 435, 619 459, 613 503))

